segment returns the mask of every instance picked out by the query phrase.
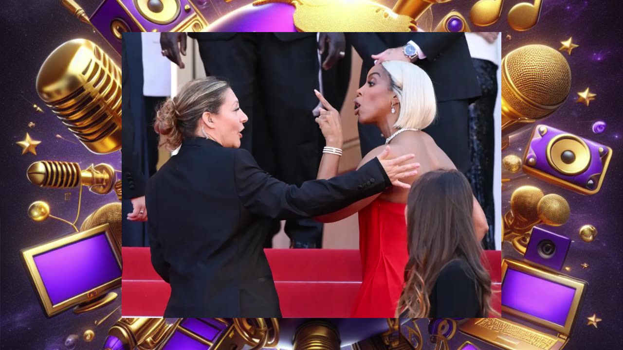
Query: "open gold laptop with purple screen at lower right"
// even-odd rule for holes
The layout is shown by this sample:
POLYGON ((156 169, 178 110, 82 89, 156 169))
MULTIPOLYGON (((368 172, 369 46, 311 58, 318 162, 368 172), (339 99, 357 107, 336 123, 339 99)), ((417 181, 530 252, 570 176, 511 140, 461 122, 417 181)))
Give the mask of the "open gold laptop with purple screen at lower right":
POLYGON ((460 331, 507 350, 562 349, 588 283, 513 259, 502 260, 502 318, 472 318, 460 331))

